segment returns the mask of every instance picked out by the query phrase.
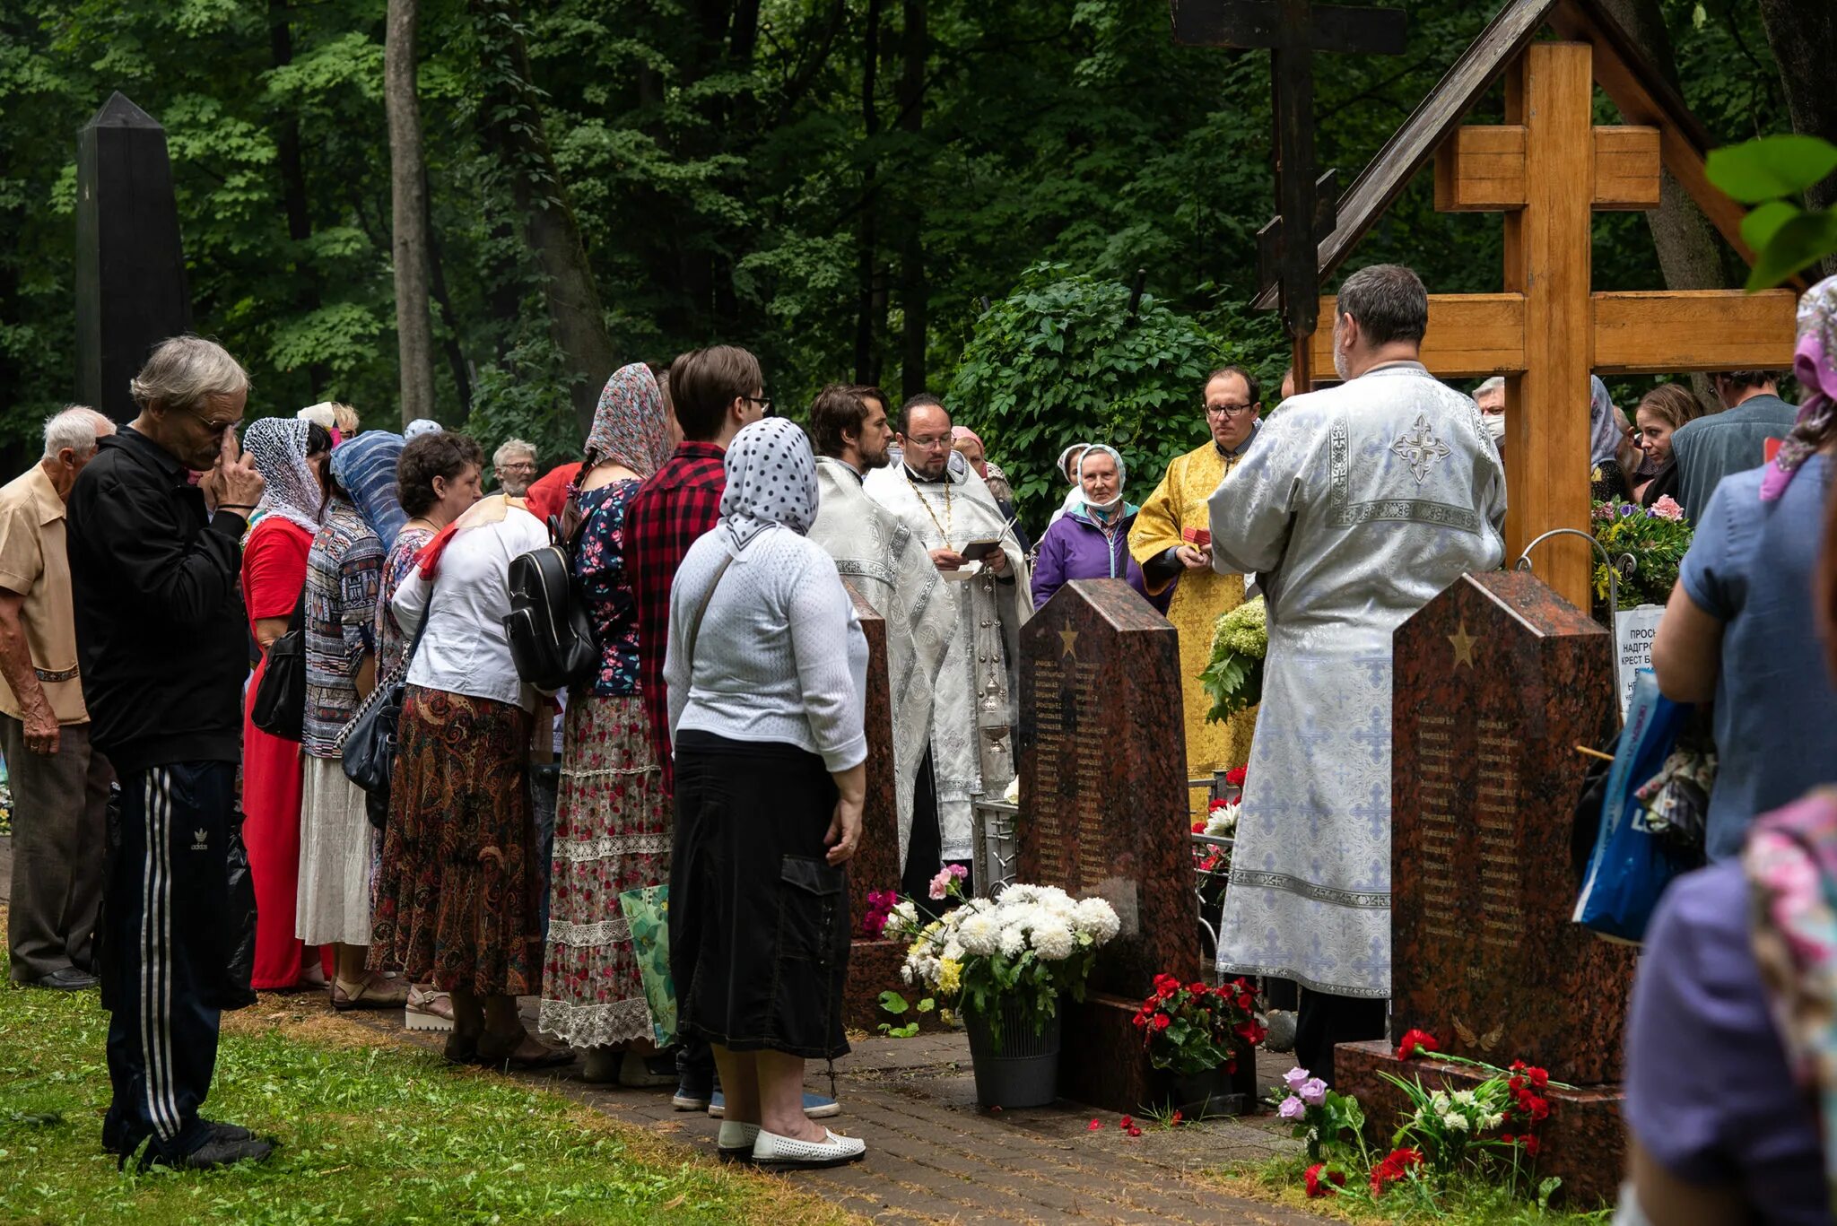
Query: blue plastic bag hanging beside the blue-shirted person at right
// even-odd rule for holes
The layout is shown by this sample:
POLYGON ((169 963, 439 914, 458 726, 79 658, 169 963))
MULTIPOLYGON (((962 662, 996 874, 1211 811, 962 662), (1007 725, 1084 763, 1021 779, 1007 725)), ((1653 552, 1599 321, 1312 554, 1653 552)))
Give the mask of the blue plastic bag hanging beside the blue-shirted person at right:
POLYGON ((1646 809, 1635 794, 1664 766, 1688 717, 1690 706, 1661 695, 1651 669, 1640 669, 1607 772, 1595 853, 1572 915, 1578 925, 1611 941, 1644 941, 1646 923, 1666 886, 1692 868, 1648 829, 1646 809))

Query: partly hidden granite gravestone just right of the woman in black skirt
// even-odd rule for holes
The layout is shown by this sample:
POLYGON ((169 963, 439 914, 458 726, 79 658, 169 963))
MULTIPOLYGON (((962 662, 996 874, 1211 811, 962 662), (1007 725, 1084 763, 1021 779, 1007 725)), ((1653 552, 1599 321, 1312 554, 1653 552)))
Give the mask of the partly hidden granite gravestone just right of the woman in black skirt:
MULTIPOLYGON (((843 581, 849 588, 849 583, 843 581)), ((887 621, 867 599, 849 588, 854 614, 867 636, 867 704, 863 726, 867 732, 867 800, 862 805, 862 846, 849 860, 849 917, 856 937, 849 948, 849 980, 843 993, 843 1022, 873 1031, 887 1020, 880 1013, 880 993, 900 989, 900 965, 906 961, 902 941, 867 939, 862 936, 862 917, 867 914, 867 895, 874 890, 900 888, 900 816, 893 776, 893 700, 887 682, 887 621)), ((935 1015, 931 1015, 935 1016, 935 1015)), ((913 1020, 911 1016, 900 1020, 913 1020)))

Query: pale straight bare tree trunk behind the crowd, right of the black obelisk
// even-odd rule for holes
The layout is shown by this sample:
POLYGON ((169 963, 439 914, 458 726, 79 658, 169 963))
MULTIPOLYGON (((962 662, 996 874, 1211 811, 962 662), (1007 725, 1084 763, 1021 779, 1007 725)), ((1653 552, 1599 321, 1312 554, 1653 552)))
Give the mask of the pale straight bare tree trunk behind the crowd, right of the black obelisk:
POLYGON ((395 259, 395 344, 402 425, 434 417, 434 322, 428 316, 428 176, 415 92, 417 0, 389 0, 382 99, 389 116, 389 252, 395 259))

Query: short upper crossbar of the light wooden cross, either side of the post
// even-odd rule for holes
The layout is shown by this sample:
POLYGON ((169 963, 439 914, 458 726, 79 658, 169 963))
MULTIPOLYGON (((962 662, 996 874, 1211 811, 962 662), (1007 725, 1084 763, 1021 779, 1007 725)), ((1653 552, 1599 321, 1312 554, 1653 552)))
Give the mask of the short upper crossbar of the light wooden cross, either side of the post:
MULTIPOLYGON (((1442 213, 1497 213, 1525 208, 1521 123, 1462 127, 1435 151, 1435 208, 1442 213)), ((1659 208, 1659 129, 1596 127, 1596 210, 1659 208)))

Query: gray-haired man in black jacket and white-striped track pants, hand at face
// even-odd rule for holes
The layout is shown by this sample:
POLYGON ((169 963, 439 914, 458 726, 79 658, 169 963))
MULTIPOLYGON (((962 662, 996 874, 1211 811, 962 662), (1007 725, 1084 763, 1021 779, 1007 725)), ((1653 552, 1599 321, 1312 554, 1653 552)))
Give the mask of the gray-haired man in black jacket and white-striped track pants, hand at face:
POLYGON ((222 346, 165 340, 130 388, 140 415, 101 439, 68 526, 83 700, 121 776, 97 934, 112 1015, 103 1149, 209 1169, 274 1149, 198 1114, 219 1009, 248 991, 230 983, 226 851, 248 676, 237 577, 263 478, 237 443, 248 375, 222 346))

